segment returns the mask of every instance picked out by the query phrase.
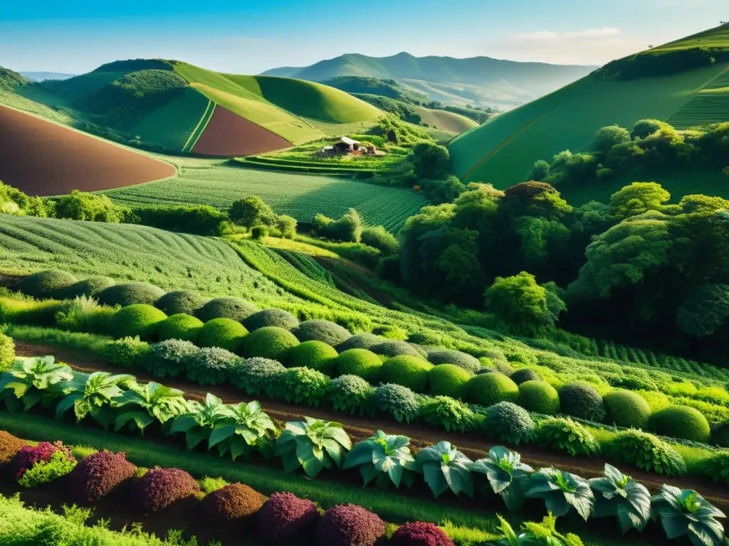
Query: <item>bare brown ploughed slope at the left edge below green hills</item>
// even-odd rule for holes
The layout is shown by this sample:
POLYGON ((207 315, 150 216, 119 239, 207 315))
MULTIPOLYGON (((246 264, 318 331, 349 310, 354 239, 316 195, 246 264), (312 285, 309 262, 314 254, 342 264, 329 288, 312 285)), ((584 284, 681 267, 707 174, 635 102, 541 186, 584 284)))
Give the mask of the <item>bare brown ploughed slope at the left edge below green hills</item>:
POLYGON ((176 173, 157 159, 0 106, 0 180, 26 194, 99 191, 176 173))

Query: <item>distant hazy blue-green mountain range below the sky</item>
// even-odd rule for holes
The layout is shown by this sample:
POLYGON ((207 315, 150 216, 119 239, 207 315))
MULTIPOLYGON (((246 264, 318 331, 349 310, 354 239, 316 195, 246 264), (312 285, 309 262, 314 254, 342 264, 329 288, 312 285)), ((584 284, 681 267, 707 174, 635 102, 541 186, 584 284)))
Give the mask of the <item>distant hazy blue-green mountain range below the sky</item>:
POLYGON ((596 66, 521 63, 489 57, 456 59, 415 57, 407 52, 390 57, 348 53, 311 66, 281 67, 267 76, 326 82, 341 76, 395 79, 429 100, 465 106, 510 109, 546 95, 595 70, 596 66))

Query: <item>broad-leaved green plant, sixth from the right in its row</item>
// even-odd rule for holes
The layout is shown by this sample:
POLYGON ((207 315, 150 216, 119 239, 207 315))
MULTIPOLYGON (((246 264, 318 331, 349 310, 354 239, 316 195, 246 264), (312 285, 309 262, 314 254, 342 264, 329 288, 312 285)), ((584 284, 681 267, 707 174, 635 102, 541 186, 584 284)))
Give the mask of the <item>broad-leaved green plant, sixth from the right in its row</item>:
POLYGON ((386 435, 381 430, 364 442, 356 444, 344 459, 343 468, 359 468, 364 485, 376 480, 380 487, 400 483, 411 487, 418 474, 418 464, 410 454, 410 438, 386 435))

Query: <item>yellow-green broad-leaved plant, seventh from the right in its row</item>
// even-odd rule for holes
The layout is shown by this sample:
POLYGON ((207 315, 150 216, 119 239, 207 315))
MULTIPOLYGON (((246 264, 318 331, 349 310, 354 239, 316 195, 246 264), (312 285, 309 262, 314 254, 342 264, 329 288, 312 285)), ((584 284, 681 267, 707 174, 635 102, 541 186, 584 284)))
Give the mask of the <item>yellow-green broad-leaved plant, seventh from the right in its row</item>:
POLYGON ((276 456, 281 457, 286 472, 303 467, 309 478, 315 478, 324 468, 341 468, 351 448, 340 423, 307 417, 303 422, 286 423, 276 442, 276 456))

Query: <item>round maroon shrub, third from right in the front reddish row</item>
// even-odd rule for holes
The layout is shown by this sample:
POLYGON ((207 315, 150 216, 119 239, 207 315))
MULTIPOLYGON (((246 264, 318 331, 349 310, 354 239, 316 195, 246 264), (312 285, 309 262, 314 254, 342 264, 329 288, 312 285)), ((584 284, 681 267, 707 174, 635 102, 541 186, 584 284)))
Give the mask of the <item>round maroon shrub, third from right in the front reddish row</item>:
POLYGON ((268 542, 298 540, 318 520, 316 505, 292 493, 274 493, 256 515, 258 536, 268 542))

